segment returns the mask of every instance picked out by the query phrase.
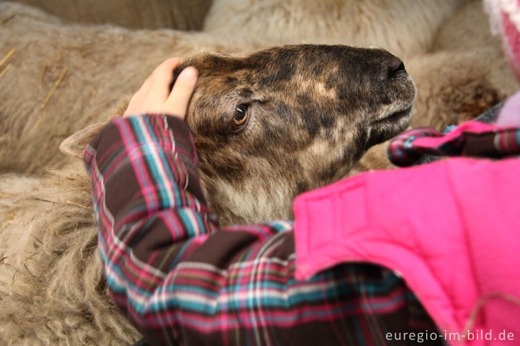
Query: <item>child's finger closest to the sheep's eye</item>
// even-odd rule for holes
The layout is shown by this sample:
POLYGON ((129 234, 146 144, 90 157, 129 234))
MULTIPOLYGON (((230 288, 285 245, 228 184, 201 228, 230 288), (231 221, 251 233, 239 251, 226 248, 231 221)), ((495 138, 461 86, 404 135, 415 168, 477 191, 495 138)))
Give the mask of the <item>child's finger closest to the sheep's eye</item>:
POLYGON ((179 74, 170 96, 164 102, 164 107, 168 112, 184 118, 188 109, 188 102, 195 90, 198 76, 199 71, 193 66, 187 67, 179 74))

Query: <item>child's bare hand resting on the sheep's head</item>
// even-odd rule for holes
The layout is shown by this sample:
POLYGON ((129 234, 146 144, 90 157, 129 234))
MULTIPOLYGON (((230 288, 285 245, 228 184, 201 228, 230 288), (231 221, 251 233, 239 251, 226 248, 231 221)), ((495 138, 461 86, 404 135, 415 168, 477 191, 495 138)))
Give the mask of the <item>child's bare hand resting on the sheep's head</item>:
POLYGON ((195 89, 199 72, 193 66, 184 69, 178 76, 172 92, 173 70, 182 62, 180 58, 170 58, 160 64, 128 103, 123 116, 164 113, 184 119, 188 101, 195 89))

